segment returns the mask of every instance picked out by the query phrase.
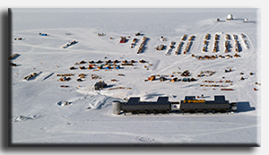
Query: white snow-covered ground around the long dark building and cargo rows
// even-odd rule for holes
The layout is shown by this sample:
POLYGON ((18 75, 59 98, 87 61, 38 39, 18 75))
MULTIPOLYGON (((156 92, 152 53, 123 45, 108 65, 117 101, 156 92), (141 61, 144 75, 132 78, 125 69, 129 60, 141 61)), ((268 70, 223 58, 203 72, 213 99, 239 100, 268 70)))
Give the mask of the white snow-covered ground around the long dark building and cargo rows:
MULTIPOLYGON (((131 143, 131 144, 258 144, 260 142, 260 93, 261 82, 259 19, 256 9, 12 9, 12 54, 18 53, 12 62, 19 66, 12 69, 12 142, 13 144, 44 143, 131 143), (232 13, 234 21, 226 22, 232 13), (220 18, 221 22, 216 22, 220 18), (242 22, 245 18, 249 22, 242 22), (141 31, 143 36, 134 37, 141 31), (49 36, 39 36, 39 32, 49 36), (70 33, 71 35, 65 35, 70 33), (105 35, 99 37, 98 33, 105 35), (202 52, 204 37, 211 34, 208 51, 202 52), (247 37, 249 48, 244 47, 240 34, 247 37), (175 56, 180 39, 195 35, 186 55, 184 41, 181 54, 175 56), (214 35, 219 34, 219 51, 213 53, 214 35), (230 34, 230 52, 235 55, 233 34, 238 35, 240 57, 197 60, 195 56, 213 56, 224 53, 225 34, 230 34), (120 37, 128 37, 120 44, 120 37), (167 41, 162 42, 163 36, 167 41), (110 39, 110 37, 112 39, 110 39), (142 38, 147 37, 142 54, 136 54, 142 38), (130 48, 136 38, 134 48, 130 48), (63 48, 67 42, 78 43, 63 48), (165 52, 171 41, 176 45, 170 56, 165 52), (158 45, 166 49, 156 51, 158 45), (145 64, 111 71, 69 70, 82 60, 132 60, 144 59, 145 64), (144 68, 144 65, 148 68, 144 68), (151 66, 150 66, 151 65, 151 66), (224 73, 227 67, 230 73, 224 73), (188 70, 196 82, 144 82, 151 75, 171 75, 188 70), (212 76, 197 77, 201 71, 215 71, 212 76), (28 82, 22 80, 30 73, 39 73, 28 82), (60 73, 74 73, 69 82, 58 82, 60 73), (83 82, 77 82, 78 74, 85 73, 83 82), (125 76, 117 76, 122 73, 125 76), (244 73, 241 75, 240 73, 244 73), (249 73, 254 73, 249 75, 249 73), (121 90, 92 90, 95 82, 91 74, 97 74, 110 88, 121 90), (222 77, 225 76, 225 79, 222 77), (240 77, 245 78, 240 81, 240 77), (117 79, 117 82, 111 82, 117 79), (203 81, 232 81, 220 83, 221 87, 200 87, 203 81), (68 88, 60 87, 68 85, 68 88), (126 88, 131 88, 128 90, 126 88), (226 88, 226 87, 225 87, 226 88), (256 88, 257 90, 254 90, 256 88), (206 99, 225 95, 230 101, 238 101, 239 111, 227 114, 186 114, 113 116, 112 100, 141 97, 156 100, 169 96, 170 101, 184 99, 187 95, 206 99), (61 106, 68 101, 69 106, 61 106)), ((179 73, 174 76, 182 79, 179 73)), ((171 79, 170 77, 168 77, 171 79)))

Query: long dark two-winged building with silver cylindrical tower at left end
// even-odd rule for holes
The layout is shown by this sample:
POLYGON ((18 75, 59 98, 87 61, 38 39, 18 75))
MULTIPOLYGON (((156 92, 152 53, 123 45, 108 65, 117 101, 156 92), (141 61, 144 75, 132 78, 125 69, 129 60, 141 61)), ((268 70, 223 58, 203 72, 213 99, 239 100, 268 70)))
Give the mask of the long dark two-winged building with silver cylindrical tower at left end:
POLYGON ((214 100, 195 99, 195 96, 186 96, 184 100, 169 101, 169 97, 159 97, 157 101, 140 101, 139 97, 131 97, 126 102, 113 101, 113 114, 120 114, 121 112, 132 113, 169 113, 170 111, 184 112, 200 112, 204 113, 212 111, 230 111, 237 110, 237 104, 230 104, 229 100, 225 100, 225 96, 214 96, 214 100))

